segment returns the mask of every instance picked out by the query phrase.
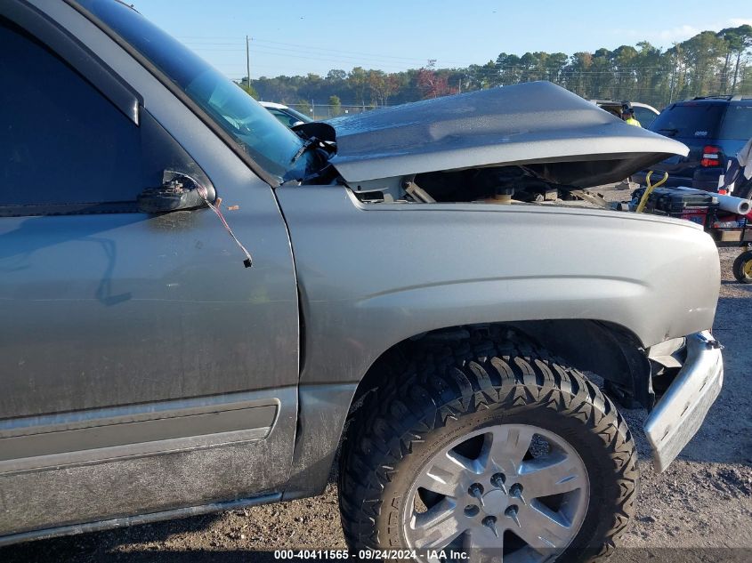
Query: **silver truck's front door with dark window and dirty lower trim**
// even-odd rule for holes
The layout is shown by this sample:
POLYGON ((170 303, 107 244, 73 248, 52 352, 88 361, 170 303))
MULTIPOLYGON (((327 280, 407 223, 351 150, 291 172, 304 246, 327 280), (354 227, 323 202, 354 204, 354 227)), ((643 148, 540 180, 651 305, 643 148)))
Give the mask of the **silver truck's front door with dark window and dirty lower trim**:
POLYGON ((279 496, 298 309, 270 186, 27 4, 0 16, 0 535, 279 496), (253 267, 206 206, 139 211, 166 170, 253 267))

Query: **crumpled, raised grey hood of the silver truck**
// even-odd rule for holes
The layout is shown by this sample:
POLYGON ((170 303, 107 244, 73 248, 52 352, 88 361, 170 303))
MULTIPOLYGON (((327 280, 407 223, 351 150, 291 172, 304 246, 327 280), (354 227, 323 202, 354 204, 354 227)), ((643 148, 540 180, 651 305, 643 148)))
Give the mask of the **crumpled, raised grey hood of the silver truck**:
POLYGON ((622 181, 689 151, 550 82, 417 101, 327 123, 336 131, 331 164, 350 184, 524 165, 547 181, 586 188, 622 181))

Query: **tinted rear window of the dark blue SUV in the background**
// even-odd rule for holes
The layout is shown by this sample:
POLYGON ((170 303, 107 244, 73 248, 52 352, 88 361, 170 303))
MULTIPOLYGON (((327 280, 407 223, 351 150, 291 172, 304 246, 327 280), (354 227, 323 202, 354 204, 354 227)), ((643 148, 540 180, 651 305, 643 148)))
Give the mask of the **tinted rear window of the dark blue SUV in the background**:
POLYGON ((715 139, 725 104, 684 102, 664 109, 651 131, 682 139, 715 139))

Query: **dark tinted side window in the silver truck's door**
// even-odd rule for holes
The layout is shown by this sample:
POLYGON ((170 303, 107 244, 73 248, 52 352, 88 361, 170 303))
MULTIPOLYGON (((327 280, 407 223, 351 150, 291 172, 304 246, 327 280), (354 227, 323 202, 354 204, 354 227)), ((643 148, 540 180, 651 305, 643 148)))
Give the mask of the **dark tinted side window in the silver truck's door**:
POLYGON ((123 203, 143 189, 139 129, 43 44, 0 19, 0 205, 123 203))

